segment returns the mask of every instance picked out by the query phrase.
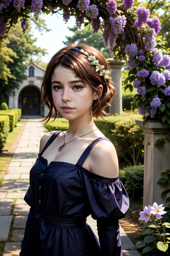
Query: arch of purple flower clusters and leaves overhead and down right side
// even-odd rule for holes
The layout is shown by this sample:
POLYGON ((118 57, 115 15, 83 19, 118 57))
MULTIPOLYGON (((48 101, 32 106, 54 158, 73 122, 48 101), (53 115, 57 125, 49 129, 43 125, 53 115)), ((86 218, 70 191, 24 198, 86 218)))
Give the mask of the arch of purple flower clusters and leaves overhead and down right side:
POLYGON ((127 61, 131 70, 125 90, 137 88, 132 109, 139 109, 143 124, 147 121, 170 127, 170 51, 166 41, 157 37, 161 28, 159 18, 150 17, 149 9, 134 0, 3 0, 0 4, 0 36, 21 17, 23 31, 27 29, 29 13, 58 13, 63 9, 67 22, 75 16, 77 27, 88 24, 94 32, 103 31, 104 44, 109 44, 115 59, 127 61), (5 17, 5 18, 4 18, 5 17), (133 85, 132 85, 133 83, 133 85))

